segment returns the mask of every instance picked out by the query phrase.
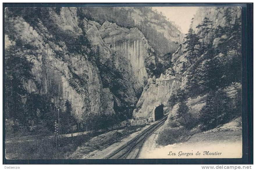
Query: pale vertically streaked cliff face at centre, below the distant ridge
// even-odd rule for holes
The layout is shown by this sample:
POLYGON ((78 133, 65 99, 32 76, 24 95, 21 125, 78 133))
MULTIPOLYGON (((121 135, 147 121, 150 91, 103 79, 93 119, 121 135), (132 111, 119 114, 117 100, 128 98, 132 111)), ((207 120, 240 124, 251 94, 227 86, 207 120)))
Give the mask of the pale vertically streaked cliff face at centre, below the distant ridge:
POLYGON ((148 77, 147 66, 156 63, 152 53, 149 53, 153 49, 148 45, 144 35, 138 28, 121 28, 108 21, 102 24, 100 32, 103 41, 129 61, 128 73, 134 75, 136 84, 145 86, 144 81, 148 77))

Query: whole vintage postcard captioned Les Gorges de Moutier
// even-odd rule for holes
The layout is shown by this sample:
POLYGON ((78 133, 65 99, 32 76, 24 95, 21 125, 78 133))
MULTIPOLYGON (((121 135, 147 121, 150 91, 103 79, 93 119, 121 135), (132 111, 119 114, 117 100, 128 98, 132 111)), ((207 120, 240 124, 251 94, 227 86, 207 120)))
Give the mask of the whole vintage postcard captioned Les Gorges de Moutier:
POLYGON ((5 8, 6 159, 242 158, 241 8, 5 8))

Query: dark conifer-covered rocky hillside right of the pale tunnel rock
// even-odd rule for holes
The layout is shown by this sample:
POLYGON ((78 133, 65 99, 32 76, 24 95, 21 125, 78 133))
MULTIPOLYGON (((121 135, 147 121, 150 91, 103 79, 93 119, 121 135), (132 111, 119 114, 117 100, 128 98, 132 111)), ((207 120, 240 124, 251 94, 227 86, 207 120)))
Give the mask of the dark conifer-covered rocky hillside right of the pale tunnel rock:
MULTIPOLYGON (((176 67, 177 62, 184 62, 182 71, 176 69, 175 73, 177 77, 182 74, 182 86, 168 104, 170 109, 178 104, 176 118, 185 129, 200 125, 201 130, 209 130, 241 116, 241 10, 211 10, 217 10, 222 18, 216 18, 216 12, 205 14, 195 30, 189 29, 181 49, 174 54, 176 67), (228 94, 227 88, 233 91, 228 94), (204 95, 205 103, 194 106, 198 112, 191 113, 189 100, 204 95)), ((168 134, 163 131, 159 139, 162 135, 168 134)))

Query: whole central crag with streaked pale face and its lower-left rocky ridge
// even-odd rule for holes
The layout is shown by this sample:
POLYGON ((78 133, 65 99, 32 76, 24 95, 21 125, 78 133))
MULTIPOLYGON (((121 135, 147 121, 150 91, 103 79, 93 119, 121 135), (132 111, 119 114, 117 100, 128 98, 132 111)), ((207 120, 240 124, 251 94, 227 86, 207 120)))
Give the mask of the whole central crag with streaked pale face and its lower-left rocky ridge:
POLYGON ((106 21, 102 26, 95 21, 83 20, 83 30, 90 43, 91 50, 99 55, 99 61, 105 64, 112 60, 115 68, 129 81, 122 98, 129 105, 137 102, 150 74, 149 65, 155 65, 154 51, 137 28, 121 28, 115 23, 106 21))

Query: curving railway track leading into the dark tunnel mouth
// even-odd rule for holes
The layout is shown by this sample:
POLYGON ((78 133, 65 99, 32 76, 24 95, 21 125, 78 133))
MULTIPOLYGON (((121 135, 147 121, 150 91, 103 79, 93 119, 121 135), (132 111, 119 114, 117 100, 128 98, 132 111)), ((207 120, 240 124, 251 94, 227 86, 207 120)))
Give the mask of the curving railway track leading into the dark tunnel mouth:
POLYGON ((168 115, 165 115, 159 122, 144 130, 136 138, 125 144, 120 149, 111 153, 106 159, 136 159, 139 156, 143 143, 155 130, 164 124, 168 115))

